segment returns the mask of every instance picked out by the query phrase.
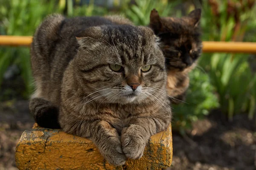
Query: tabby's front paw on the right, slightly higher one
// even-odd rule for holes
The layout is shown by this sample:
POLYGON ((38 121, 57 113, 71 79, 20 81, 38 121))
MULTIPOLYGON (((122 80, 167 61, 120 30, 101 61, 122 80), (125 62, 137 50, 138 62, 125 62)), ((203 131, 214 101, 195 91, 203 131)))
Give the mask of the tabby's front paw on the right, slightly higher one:
POLYGON ((125 127, 122 130, 121 143, 125 156, 131 159, 139 159, 143 156, 145 140, 137 130, 136 125, 125 127))

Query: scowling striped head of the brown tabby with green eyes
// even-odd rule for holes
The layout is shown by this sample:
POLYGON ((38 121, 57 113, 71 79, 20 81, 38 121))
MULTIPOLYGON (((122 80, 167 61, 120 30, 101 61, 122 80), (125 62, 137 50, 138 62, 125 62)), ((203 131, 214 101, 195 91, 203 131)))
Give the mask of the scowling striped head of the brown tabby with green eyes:
POLYGON ((77 40, 75 77, 89 102, 148 102, 164 92, 165 60, 150 28, 87 28, 77 40))

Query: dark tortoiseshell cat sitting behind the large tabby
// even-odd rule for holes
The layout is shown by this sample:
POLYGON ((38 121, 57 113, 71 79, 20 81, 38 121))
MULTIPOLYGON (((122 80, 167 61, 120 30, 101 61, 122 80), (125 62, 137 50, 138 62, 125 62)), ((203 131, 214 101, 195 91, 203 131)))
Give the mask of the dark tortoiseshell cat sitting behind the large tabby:
POLYGON ((155 9, 150 14, 150 27, 160 37, 160 47, 166 58, 167 92, 175 98, 171 98, 174 103, 184 100, 189 87, 188 74, 201 55, 200 18, 201 9, 181 18, 160 17, 155 9))

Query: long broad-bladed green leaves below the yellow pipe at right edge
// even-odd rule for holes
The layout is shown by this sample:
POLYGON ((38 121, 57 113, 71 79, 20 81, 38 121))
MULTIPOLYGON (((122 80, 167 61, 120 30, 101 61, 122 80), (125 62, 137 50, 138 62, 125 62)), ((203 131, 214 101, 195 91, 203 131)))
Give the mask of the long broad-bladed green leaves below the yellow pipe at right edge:
POLYGON ((248 112, 250 119, 255 110, 256 75, 250 70, 248 55, 219 54, 211 58, 204 56, 204 62, 209 62, 209 76, 215 86, 221 111, 227 114, 229 120, 235 113, 248 112), (207 60, 207 61, 206 61, 207 60))

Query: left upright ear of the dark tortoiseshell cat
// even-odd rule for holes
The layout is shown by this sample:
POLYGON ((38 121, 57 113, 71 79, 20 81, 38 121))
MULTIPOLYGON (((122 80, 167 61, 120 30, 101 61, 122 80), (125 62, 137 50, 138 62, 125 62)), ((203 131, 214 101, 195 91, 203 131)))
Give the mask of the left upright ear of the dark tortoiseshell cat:
POLYGON ((149 26, 154 30, 155 34, 158 34, 158 32, 163 28, 163 23, 161 22, 161 18, 155 8, 150 13, 149 26))

